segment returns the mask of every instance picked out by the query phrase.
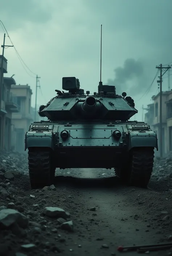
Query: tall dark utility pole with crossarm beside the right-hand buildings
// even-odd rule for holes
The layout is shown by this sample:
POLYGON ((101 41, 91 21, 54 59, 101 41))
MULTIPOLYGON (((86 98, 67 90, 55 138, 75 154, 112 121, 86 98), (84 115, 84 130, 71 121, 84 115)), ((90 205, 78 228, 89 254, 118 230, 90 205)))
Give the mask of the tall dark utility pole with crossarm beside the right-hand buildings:
POLYGON ((168 65, 168 67, 163 67, 162 64, 160 66, 156 66, 157 69, 160 69, 160 80, 157 81, 160 83, 160 104, 159 104, 159 138, 160 138, 160 157, 163 157, 163 122, 162 122, 162 82, 163 82, 163 75, 167 72, 168 69, 171 68, 171 66, 168 65), (165 72, 162 74, 163 69, 165 69, 165 72))

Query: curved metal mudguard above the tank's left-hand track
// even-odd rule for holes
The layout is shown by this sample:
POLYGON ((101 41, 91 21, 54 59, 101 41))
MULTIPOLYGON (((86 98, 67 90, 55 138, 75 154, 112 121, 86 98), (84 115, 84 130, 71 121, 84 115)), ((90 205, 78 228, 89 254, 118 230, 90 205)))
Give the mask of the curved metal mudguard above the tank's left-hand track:
POLYGON ((50 147, 54 149, 52 131, 46 133, 28 131, 25 135, 25 150, 28 147, 50 147))

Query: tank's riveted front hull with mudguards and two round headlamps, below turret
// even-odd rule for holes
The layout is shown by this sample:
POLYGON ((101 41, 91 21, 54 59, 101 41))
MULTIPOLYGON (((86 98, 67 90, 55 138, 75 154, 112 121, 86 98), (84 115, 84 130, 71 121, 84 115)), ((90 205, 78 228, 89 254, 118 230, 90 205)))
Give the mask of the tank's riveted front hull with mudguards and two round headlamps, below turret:
POLYGON ((50 148, 56 168, 122 168, 132 148, 157 148, 157 137, 143 122, 34 122, 25 138, 31 147, 50 148))

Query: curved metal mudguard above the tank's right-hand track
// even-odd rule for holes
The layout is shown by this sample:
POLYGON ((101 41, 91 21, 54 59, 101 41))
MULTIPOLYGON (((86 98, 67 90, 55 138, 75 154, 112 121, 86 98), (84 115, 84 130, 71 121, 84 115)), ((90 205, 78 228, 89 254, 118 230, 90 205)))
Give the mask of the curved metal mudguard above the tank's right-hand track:
POLYGON ((144 133, 129 133, 128 149, 133 147, 155 147, 158 151, 157 135, 153 131, 144 133))

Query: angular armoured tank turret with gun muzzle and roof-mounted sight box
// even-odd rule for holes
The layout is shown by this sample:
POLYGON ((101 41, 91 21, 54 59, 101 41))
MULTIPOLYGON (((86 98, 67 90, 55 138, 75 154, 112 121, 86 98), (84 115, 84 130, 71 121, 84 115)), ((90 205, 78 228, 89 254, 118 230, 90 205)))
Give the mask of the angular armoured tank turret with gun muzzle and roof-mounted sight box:
POLYGON ((56 90, 57 96, 51 99, 46 106, 41 105, 38 114, 51 121, 76 119, 101 120, 128 120, 138 113, 134 100, 116 94, 115 86, 98 86, 98 93, 90 95, 89 91, 80 89, 79 79, 76 77, 63 77, 62 89, 56 90))

